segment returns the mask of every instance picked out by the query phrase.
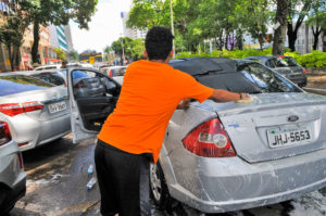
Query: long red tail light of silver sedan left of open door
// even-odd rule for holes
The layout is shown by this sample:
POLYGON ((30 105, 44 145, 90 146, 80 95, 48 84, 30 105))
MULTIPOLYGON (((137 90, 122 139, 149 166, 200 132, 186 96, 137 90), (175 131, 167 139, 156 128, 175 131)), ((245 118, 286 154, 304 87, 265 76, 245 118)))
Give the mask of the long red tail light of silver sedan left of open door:
POLYGON ((42 107, 43 105, 37 101, 25 102, 25 103, 5 103, 5 104, 0 104, 0 112, 9 116, 15 116, 21 113, 42 110, 42 107))

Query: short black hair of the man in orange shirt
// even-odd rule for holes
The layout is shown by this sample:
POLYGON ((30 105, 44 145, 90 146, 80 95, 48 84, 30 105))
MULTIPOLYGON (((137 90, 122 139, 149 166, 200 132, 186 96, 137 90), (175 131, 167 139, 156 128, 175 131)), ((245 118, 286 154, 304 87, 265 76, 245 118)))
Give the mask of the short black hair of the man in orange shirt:
POLYGON ((154 26, 146 35, 145 47, 149 60, 166 60, 172 50, 173 38, 171 30, 154 26))

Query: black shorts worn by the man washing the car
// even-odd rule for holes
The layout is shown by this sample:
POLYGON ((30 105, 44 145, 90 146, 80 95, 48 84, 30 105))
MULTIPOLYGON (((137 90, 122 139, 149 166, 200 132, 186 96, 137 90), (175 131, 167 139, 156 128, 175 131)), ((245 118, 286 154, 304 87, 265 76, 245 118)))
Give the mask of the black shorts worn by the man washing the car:
POLYGON ((142 207, 149 206, 149 155, 130 154, 98 140, 95 162, 101 193, 101 214, 148 215, 150 209, 142 207), (140 202, 145 202, 142 207, 140 202))

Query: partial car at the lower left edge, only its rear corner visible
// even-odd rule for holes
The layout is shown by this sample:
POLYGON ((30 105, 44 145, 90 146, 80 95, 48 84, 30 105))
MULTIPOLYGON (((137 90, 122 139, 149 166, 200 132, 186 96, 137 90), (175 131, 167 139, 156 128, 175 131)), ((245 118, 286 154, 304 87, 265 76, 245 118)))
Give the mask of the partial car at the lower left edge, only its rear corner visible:
POLYGON ((7 122, 0 120, 0 215, 10 212, 26 193, 22 153, 7 122))

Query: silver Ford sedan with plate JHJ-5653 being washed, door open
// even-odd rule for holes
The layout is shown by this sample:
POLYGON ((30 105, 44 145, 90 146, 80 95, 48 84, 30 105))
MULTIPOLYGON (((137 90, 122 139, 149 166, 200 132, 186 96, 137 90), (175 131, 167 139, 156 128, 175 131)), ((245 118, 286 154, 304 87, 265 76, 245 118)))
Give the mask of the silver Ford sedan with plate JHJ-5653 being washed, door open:
MULTIPOLYGON (((173 198, 203 213, 230 212, 326 186, 325 97, 306 93, 253 61, 199 58, 170 64, 209 87, 248 92, 253 101, 192 101, 189 109, 174 112, 150 170, 151 193, 160 207, 173 198)), ((68 73, 71 84, 74 71, 68 73)), ((97 135, 120 88, 104 97, 70 98, 74 142, 97 135), (101 120, 89 118, 95 113, 103 114, 101 120)))

